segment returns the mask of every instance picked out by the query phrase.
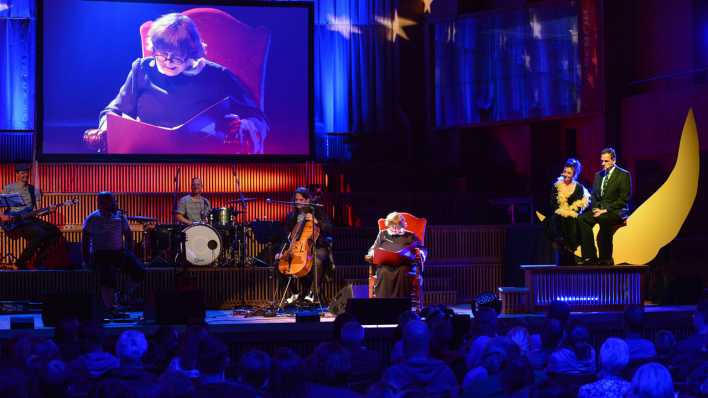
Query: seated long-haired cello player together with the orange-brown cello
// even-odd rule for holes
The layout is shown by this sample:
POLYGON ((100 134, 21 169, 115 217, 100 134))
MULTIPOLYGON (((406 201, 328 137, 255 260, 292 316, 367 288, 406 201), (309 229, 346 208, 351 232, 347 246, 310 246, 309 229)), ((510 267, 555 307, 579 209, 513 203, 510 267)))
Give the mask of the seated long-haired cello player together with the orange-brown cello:
MULTIPOLYGON (((313 303, 315 301, 315 291, 321 292, 320 286, 325 274, 332 272, 334 264, 331 261, 331 234, 332 224, 327 217, 327 214, 322 211, 321 205, 312 205, 312 194, 305 187, 299 187, 293 195, 294 209, 288 213, 285 218, 285 228, 289 233, 288 243, 283 248, 281 253, 276 254, 275 259, 279 260, 279 271, 281 277, 293 276, 300 281, 298 289, 293 283, 290 283, 290 291, 287 298, 288 304, 294 303, 298 298, 305 302, 313 303), (307 228, 308 224, 312 223, 312 228, 307 228), (312 231, 309 237, 304 236, 304 231, 312 231), (299 238, 299 239, 298 239, 299 238), (314 250, 308 245, 300 245, 298 240, 311 241, 314 243, 314 250), (314 251, 314 256, 310 252, 314 251), (296 251, 306 251, 304 254, 302 270, 295 271, 292 265, 299 263, 298 258, 301 257, 296 251), (310 259, 310 264, 307 264, 307 257, 310 259), (311 268, 308 268, 311 267, 311 268), (315 281, 317 275, 317 281, 315 281), (314 285, 316 283, 316 285, 314 285)), ((281 284, 283 286, 284 284, 281 284)), ((320 303, 321 301, 321 296, 320 303)))

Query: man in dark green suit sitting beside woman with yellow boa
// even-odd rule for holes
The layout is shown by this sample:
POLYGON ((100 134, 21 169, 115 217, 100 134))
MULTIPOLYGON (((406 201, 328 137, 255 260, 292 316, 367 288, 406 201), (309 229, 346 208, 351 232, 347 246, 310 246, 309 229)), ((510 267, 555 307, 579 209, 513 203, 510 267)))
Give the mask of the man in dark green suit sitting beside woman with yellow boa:
POLYGON ((591 211, 579 217, 583 264, 613 265, 612 236, 617 226, 629 215, 629 197, 632 183, 629 172, 617 166, 617 153, 612 148, 600 152, 602 170, 595 173, 590 199, 591 211), (597 234, 597 249, 592 227, 600 224, 597 234), (598 259, 599 251, 599 259, 598 259))

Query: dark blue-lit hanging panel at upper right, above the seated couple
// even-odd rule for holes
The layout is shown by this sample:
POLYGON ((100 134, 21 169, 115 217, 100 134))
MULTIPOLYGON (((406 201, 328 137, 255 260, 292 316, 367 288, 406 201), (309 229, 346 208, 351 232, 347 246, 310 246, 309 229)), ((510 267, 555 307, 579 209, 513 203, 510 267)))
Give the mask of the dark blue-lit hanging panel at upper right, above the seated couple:
POLYGON ((435 126, 581 110, 575 6, 459 17, 434 27, 435 126))

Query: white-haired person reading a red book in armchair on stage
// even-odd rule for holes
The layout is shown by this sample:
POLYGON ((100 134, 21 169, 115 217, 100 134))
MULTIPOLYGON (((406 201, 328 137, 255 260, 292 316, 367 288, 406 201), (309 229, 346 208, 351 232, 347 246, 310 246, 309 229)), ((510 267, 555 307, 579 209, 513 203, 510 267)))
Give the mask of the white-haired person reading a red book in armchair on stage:
POLYGON ((406 219, 393 212, 386 216, 386 229, 379 232, 376 241, 364 256, 375 263, 377 298, 410 297, 411 281, 408 277, 413 263, 425 261, 426 250, 420 239, 406 229, 406 219), (383 258, 383 257, 386 258, 383 258), (377 257, 382 259, 377 261, 377 257))

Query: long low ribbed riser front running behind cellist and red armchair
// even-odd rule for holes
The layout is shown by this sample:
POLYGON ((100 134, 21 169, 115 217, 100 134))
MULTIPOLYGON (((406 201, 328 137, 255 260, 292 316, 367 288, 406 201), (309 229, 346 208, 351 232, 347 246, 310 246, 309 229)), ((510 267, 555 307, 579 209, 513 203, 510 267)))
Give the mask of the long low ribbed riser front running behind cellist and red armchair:
MULTIPOLYGON (((273 300, 275 279, 272 268, 148 268, 145 283, 136 292, 175 289, 178 284, 204 291, 205 304, 211 309, 233 308, 245 302, 263 305, 273 300)), ((124 275, 118 288, 125 284, 124 275)), ((425 305, 466 302, 482 291, 493 291, 501 283, 501 264, 430 262, 426 265, 425 305)), ((349 283, 366 284, 368 266, 337 266, 334 278, 323 284, 329 300, 349 283)), ((49 294, 98 294, 98 276, 90 270, 21 270, 0 271, 0 300, 41 300, 49 294)))

